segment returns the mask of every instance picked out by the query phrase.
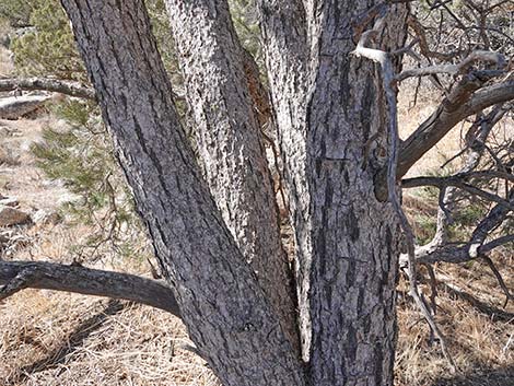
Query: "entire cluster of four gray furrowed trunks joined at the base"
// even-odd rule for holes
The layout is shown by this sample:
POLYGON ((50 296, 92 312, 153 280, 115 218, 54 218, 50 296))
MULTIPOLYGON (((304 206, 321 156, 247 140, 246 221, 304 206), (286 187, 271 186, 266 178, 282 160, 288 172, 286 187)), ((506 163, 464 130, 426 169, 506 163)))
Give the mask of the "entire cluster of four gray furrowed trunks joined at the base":
MULTIPOLYGON (((382 2, 260 4, 296 241, 304 374, 287 339, 291 324, 282 314, 281 326, 276 312, 288 304, 280 299, 287 285, 272 294, 285 266, 226 1, 167 1, 208 184, 141 2, 62 1, 156 256, 221 381, 392 386, 400 236, 392 206, 375 197, 388 156, 386 103, 379 68, 350 57, 354 33, 366 27, 355 22, 382 2)), ((376 45, 394 50, 406 37, 406 7, 385 7, 376 45)))

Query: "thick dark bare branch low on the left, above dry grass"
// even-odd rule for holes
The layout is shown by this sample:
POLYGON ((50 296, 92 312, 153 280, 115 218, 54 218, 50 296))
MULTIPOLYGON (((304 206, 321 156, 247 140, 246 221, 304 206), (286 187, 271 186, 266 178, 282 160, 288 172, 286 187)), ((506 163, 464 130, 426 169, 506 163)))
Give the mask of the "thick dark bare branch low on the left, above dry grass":
POLYGON ((129 273, 47 261, 0 260, 0 301, 24 289, 54 290, 121 299, 180 317, 175 296, 163 281, 129 273))

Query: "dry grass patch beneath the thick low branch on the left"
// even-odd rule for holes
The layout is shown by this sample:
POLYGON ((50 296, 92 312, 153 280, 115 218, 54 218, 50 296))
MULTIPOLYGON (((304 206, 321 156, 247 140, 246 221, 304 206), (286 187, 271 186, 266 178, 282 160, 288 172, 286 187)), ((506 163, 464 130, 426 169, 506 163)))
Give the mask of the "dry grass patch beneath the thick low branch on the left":
POLYGON ((3 385, 217 385, 167 313, 25 291, 2 305, 3 385), (9 312, 7 312, 9 309, 9 312))

